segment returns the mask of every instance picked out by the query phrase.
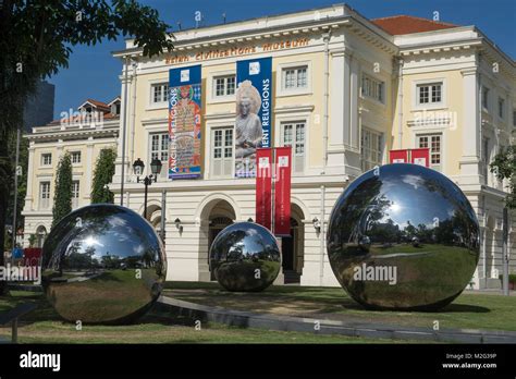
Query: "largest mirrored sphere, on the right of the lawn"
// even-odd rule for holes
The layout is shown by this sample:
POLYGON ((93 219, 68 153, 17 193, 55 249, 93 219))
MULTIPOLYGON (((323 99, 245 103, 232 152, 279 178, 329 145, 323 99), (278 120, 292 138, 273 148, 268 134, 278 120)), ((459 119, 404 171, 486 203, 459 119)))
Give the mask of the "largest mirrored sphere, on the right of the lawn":
POLYGON ((470 282, 479 227, 446 176, 386 164, 356 179, 337 199, 327 248, 336 279, 363 306, 435 310, 470 282))

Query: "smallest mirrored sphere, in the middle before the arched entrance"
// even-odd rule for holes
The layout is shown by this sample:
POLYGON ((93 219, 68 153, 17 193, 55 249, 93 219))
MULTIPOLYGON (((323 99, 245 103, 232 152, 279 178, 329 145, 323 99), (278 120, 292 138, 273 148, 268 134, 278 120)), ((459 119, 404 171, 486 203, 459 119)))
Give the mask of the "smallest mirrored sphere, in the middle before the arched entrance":
POLYGON ((262 291, 275 280, 280 266, 275 237, 257 223, 226 227, 210 247, 210 270, 229 291, 262 291))

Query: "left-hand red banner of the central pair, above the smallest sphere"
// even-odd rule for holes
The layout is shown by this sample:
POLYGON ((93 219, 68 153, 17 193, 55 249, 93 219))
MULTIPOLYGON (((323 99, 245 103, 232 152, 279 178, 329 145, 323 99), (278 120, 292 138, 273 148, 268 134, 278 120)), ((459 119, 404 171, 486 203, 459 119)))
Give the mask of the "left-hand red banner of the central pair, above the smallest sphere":
POLYGON ((271 230, 272 149, 256 149, 256 223, 271 230))

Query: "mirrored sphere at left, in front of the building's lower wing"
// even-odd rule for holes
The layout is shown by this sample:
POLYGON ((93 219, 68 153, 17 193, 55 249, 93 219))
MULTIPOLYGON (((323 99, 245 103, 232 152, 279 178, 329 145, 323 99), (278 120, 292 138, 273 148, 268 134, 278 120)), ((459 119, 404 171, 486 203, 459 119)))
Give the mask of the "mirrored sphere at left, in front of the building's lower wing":
POLYGON ((163 245, 131 209, 79 208, 50 231, 42 286, 58 314, 83 323, 125 323, 145 314, 165 279, 163 245))

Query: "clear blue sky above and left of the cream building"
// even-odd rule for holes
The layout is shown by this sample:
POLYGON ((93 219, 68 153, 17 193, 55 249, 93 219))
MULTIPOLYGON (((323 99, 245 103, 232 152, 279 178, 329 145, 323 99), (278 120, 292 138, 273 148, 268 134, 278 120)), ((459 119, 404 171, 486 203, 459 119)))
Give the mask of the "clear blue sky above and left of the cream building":
MULTIPOLYGON (((204 25, 295 12, 339 3, 339 0, 147 0, 142 3, 156 8, 160 17, 177 30, 194 27, 194 14, 200 11, 204 25)), ((516 0, 353 0, 347 4, 368 19, 409 14, 431 19, 434 11, 440 20, 457 25, 477 25, 509 57, 516 59, 516 0)), ((62 69, 49 82, 56 85, 54 119, 70 108, 74 110, 86 98, 109 101, 120 94, 119 75, 122 64, 111 51, 124 47, 123 39, 105 41, 94 47, 73 48, 69 69, 62 69)))

